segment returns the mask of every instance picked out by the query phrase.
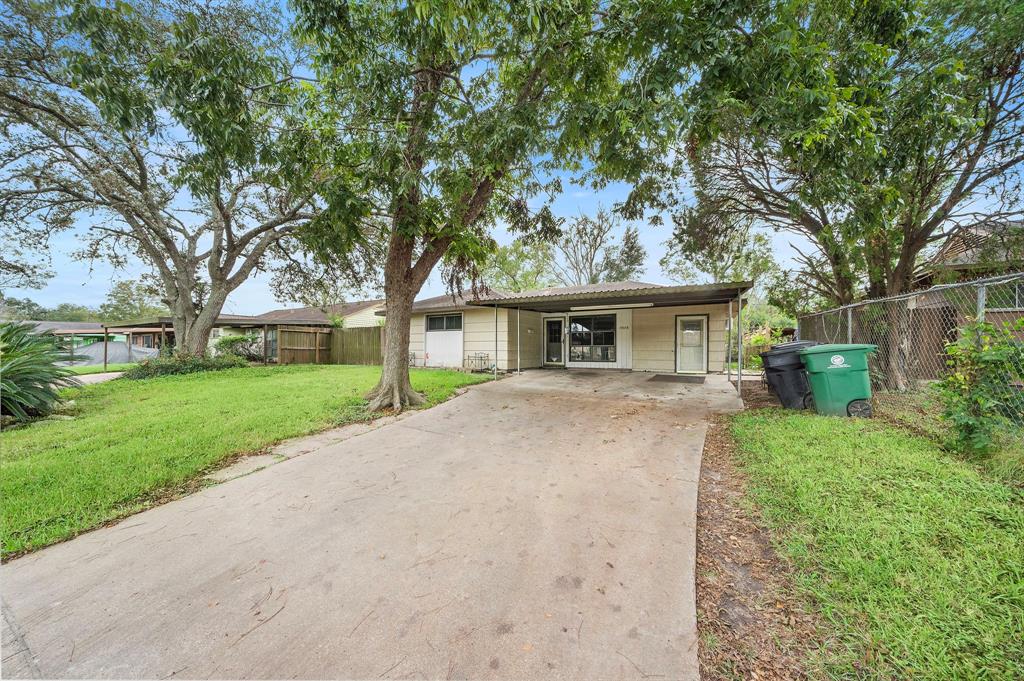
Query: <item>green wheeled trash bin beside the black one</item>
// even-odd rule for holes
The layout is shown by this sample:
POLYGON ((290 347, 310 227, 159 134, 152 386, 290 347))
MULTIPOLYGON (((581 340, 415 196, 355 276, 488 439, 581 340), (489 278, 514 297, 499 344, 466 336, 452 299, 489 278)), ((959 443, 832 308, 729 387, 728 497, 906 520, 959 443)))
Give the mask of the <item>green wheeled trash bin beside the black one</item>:
POLYGON ((871 380, 867 355, 878 345, 814 345, 800 351, 811 395, 805 406, 830 416, 871 416, 871 380))

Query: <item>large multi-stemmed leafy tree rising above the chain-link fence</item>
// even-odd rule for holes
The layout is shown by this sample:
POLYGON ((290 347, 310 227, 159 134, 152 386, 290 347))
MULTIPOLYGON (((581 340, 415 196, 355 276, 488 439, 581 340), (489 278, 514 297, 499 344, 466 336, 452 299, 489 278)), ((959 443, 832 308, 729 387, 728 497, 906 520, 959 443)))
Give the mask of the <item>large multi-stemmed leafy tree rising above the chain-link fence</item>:
POLYGON ((845 304, 906 291, 930 246, 1021 215, 1018 2, 776 0, 725 51, 678 150, 685 248, 790 232, 791 278, 845 304))

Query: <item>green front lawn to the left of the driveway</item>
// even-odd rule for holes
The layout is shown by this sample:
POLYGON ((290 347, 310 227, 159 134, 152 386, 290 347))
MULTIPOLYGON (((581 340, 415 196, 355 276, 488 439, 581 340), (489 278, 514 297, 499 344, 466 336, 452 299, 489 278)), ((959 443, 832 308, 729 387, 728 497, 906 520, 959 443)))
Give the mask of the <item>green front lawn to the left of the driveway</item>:
MULTIPOLYGON (((74 388, 70 421, 0 434, 5 556, 136 512, 239 453, 367 417, 379 367, 259 367, 74 388)), ((430 405, 487 376, 413 370, 430 405)))

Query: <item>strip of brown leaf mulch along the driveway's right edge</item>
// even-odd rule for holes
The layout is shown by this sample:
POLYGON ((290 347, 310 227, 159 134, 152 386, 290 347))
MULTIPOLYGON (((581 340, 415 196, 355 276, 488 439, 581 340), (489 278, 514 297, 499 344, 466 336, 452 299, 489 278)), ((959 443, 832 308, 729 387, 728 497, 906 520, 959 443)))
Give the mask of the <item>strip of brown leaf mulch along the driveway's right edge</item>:
MULTIPOLYGON (((743 384, 749 409, 777 407, 743 384)), ((709 427, 697 500, 697 630, 703 679, 802 679, 818 649, 816 616, 794 595, 791 568, 744 508, 746 477, 735 464, 728 417, 709 427)))

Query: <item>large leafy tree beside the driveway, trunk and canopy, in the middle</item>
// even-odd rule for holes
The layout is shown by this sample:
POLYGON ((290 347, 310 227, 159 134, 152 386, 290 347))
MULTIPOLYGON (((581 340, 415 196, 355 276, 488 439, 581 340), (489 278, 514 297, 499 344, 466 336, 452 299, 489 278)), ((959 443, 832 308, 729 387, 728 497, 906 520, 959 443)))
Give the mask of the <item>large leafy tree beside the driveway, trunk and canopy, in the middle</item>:
POLYGON ((678 82, 685 55, 707 49, 696 29, 686 41, 676 32, 734 20, 733 10, 646 0, 295 5, 321 80, 316 158, 351 169, 318 185, 329 208, 305 241, 343 250, 371 216, 389 230, 372 409, 422 400, 409 380, 410 317, 435 265, 453 290, 475 282, 499 217, 515 232, 550 237, 550 213, 525 201, 545 170, 580 169, 590 156, 602 172, 628 174, 641 136, 631 120, 678 82), (655 45, 672 69, 643 62, 655 45), (627 77, 648 73, 666 79, 627 77))

